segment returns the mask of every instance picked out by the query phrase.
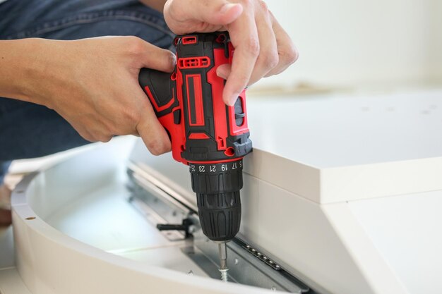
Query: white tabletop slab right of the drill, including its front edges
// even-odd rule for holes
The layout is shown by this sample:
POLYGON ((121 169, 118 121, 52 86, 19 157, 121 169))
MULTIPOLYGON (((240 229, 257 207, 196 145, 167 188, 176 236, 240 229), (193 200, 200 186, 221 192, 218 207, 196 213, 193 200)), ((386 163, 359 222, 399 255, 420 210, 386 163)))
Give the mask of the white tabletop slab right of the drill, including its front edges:
POLYGON ((442 90, 251 97, 244 171, 320 203, 442 190, 442 90))

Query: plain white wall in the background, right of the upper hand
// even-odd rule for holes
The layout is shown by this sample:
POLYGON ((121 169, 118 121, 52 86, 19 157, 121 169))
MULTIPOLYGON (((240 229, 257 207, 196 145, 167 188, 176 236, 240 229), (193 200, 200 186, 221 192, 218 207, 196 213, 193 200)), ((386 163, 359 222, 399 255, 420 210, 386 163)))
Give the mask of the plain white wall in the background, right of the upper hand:
POLYGON ((299 60, 261 85, 442 83, 442 0, 267 0, 299 60))

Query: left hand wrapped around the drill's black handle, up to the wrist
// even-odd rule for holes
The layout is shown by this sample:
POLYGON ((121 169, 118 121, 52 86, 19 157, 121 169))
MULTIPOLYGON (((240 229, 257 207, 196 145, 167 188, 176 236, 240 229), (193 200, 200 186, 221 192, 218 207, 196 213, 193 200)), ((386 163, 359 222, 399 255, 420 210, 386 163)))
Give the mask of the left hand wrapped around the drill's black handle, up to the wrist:
POLYGON ((170 150, 138 73, 140 68, 172 72, 171 51, 137 37, 30 40, 35 57, 25 85, 28 101, 54 109, 86 140, 107 142, 113 135, 133 134, 153 154, 170 150))

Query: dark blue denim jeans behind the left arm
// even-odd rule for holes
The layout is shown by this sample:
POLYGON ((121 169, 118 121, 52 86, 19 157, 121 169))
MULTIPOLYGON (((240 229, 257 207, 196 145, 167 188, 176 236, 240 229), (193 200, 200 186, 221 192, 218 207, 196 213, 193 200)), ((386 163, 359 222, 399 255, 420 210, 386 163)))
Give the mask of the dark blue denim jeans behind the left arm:
MULTIPOLYGON (((8 0, 0 4, 0 39, 82 39, 134 35, 171 48, 162 14, 136 0, 8 0)), ((0 184, 10 161, 88 144, 45 106, 0 97, 0 184)))

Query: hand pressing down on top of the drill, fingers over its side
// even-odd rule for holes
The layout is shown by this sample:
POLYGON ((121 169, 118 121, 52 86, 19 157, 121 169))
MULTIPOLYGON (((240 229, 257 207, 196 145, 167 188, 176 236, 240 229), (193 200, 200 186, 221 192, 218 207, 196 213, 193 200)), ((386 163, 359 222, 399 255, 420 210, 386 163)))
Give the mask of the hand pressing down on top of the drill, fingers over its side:
POLYGON ((167 0, 164 14, 177 35, 229 31, 235 48, 232 68, 217 68, 217 75, 227 78, 226 104, 233 105, 247 85, 281 73, 297 60, 290 37, 262 0, 167 0))

